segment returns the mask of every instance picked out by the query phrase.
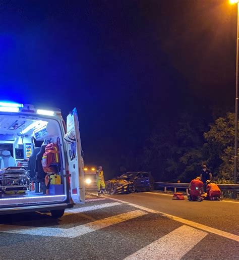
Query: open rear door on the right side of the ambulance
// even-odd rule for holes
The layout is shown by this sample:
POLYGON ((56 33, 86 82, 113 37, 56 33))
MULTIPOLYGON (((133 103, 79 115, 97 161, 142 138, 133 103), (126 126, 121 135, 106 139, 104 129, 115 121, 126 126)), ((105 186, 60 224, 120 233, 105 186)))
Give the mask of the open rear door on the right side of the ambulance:
POLYGON ((79 130, 79 121, 76 108, 67 116, 68 162, 71 174, 71 196, 75 203, 85 201, 84 162, 79 130))

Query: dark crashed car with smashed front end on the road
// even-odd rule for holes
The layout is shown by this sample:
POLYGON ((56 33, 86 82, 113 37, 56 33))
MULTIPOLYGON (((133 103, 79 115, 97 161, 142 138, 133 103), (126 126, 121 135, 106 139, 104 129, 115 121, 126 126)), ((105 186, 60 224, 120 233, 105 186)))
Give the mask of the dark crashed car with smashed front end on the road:
POLYGON ((106 191, 110 194, 153 189, 154 179, 150 172, 127 172, 106 182, 106 191))

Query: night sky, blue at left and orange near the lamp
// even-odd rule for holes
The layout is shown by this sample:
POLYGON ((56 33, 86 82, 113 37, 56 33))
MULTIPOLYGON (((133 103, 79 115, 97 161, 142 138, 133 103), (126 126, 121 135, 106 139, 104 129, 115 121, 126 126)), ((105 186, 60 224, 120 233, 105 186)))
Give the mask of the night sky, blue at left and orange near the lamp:
POLYGON ((180 111, 233 109, 235 38, 227 0, 2 0, 1 99, 76 107, 85 163, 115 175, 180 111))

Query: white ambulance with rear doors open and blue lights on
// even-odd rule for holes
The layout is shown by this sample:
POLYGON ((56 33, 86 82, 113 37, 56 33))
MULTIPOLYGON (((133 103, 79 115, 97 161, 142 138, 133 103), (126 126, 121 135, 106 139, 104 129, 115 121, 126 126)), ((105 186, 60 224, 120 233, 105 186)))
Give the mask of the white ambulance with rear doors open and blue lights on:
POLYGON ((76 109, 65 123, 59 109, 0 101, 0 215, 49 211, 59 218, 84 203, 82 153, 76 109))

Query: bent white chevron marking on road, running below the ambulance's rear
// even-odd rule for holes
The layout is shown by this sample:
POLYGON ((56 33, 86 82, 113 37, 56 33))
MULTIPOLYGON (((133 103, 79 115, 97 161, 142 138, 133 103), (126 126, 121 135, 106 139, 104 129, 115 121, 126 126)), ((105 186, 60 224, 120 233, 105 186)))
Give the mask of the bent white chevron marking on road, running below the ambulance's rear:
POLYGON ((127 220, 144 216, 146 214, 147 214, 146 212, 136 210, 136 211, 108 217, 105 219, 93 221, 85 225, 80 225, 68 229, 43 228, 43 227, 36 228, 36 227, 12 226, 12 225, 0 225, 0 229, 1 232, 3 233, 75 238, 102 228, 106 228, 114 224, 118 224, 127 220))

